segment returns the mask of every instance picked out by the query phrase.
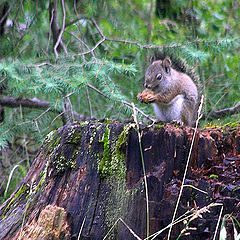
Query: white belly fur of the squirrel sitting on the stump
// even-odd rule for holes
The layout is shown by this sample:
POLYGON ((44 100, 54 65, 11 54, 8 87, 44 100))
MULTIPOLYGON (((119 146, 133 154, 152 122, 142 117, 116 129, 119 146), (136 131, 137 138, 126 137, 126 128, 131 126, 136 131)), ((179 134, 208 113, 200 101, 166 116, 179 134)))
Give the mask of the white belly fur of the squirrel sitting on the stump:
POLYGON ((181 120, 181 112, 184 103, 184 96, 178 95, 168 104, 153 103, 153 109, 156 117, 160 121, 168 122, 172 120, 181 120))

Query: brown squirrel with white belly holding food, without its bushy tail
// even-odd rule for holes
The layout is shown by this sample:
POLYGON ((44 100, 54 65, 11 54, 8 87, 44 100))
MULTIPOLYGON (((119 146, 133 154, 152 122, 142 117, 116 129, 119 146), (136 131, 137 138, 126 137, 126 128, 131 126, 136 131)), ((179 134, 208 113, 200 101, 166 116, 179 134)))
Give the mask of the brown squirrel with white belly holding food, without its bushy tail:
MULTIPOLYGON (((163 60, 153 59, 145 73, 146 90, 138 95, 138 100, 152 103, 156 118, 160 121, 180 121, 192 126, 198 89, 192 78, 185 73, 186 64, 177 62, 178 65, 173 66, 169 57, 163 60)), ((197 78, 196 75, 193 76, 197 78)))

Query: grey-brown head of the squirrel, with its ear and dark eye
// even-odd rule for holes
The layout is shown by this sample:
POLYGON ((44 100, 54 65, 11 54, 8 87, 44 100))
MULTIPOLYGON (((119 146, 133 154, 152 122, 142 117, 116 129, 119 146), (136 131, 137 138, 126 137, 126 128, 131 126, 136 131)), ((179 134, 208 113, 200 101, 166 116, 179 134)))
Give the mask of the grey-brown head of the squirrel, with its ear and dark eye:
POLYGON ((169 57, 164 60, 152 61, 145 73, 144 86, 153 91, 167 90, 171 86, 172 63, 169 57))

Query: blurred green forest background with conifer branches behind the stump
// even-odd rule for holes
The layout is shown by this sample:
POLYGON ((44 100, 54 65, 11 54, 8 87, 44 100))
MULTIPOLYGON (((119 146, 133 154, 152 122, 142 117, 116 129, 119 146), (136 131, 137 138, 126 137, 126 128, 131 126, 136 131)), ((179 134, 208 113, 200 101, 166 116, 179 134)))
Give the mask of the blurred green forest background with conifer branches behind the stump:
POLYGON ((238 0, 1 0, 1 202, 67 121, 124 120, 131 102, 143 121, 154 116, 136 96, 155 51, 196 69, 201 127, 238 122, 239 14, 238 0), (233 106, 235 114, 211 118, 233 106))

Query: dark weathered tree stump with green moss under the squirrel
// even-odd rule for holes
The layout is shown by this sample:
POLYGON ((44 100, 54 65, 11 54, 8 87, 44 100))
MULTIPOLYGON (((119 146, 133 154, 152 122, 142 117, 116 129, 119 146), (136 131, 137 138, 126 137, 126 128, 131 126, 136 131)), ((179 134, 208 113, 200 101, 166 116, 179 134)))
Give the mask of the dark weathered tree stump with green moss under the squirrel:
MULTIPOLYGON (((194 129, 158 124, 140 131, 154 234, 172 220, 194 129)), ((240 219, 239 165, 239 126, 197 131, 176 216, 189 217, 173 226, 171 239, 212 239, 221 209, 213 203, 223 205, 222 217, 240 219)), ((48 135, 0 207, 0 239, 144 239, 147 217, 136 125, 76 122, 48 135)))

